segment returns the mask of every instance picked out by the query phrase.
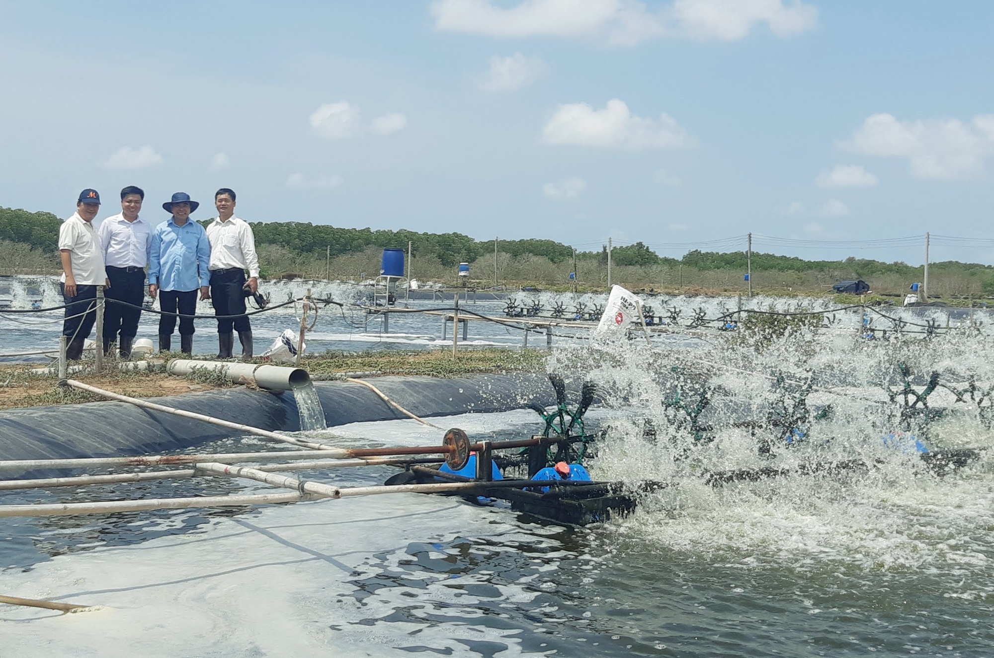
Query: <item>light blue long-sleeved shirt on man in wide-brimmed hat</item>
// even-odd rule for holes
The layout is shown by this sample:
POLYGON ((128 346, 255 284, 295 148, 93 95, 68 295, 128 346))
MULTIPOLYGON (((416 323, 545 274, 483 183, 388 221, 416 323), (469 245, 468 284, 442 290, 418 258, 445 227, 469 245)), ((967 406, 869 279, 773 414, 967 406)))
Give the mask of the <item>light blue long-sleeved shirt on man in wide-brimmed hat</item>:
POLYGON ((207 232, 193 220, 182 227, 169 220, 152 234, 148 255, 148 282, 162 290, 196 290, 210 285, 211 243, 207 232))

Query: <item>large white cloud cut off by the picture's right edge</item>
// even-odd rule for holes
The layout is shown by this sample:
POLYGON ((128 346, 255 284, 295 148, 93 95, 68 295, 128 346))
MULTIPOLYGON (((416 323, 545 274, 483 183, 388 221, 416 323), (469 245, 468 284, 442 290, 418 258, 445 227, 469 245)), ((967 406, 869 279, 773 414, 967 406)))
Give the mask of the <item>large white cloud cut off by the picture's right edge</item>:
POLYGON ((844 149, 866 155, 907 158, 915 178, 956 179, 983 171, 994 151, 994 114, 959 119, 900 121, 891 114, 867 117, 844 149))

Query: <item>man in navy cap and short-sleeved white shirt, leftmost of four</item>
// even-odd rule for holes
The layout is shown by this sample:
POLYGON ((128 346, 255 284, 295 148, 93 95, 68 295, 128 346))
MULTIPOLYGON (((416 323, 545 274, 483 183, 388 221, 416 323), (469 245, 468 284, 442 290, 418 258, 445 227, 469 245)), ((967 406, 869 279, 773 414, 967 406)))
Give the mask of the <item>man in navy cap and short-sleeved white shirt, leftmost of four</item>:
POLYGON ((59 287, 66 299, 63 335, 69 339, 66 358, 73 361, 83 357, 83 345, 96 322, 96 286, 110 285, 100 241, 93 229, 93 218, 99 209, 100 195, 96 190, 83 190, 73 217, 59 227, 63 265, 59 287))

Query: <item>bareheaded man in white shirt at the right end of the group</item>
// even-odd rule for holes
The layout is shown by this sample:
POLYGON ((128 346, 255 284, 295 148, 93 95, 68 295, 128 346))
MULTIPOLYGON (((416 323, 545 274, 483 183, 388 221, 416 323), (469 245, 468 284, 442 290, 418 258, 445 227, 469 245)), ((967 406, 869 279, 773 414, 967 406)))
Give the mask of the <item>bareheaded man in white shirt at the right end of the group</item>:
POLYGON ((234 191, 229 188, 218 190, 214 206, 218 209, 218 217, 208 225, 207 239, 211 242, 211 302, 218 316, 218 358, 231 358, 235 347, 233 332, 237 331, 242 357, 250 359, 251 325, 245 312, 246 296, 258 290, 255 237, 248 222, 235 217, 234 191))

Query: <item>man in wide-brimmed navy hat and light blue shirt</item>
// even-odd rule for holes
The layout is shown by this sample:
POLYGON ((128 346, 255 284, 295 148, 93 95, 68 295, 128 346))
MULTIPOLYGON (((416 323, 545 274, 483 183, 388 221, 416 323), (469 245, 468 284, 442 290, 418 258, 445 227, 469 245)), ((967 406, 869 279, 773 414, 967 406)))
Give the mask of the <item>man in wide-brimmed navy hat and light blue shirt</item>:
POLYGON ((204 227, 190 219, 200 206, 186 192, 177 192, 162 209, 172 219, 160 224, 152 234, 148 257, 148 295, 159 296, 159 350, 172 347, 176 318, 180 319, 180 349, 193 353, 193 316, 197 313, 197 289, 201 300, 210 298, 211 243, 204 227))

